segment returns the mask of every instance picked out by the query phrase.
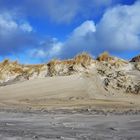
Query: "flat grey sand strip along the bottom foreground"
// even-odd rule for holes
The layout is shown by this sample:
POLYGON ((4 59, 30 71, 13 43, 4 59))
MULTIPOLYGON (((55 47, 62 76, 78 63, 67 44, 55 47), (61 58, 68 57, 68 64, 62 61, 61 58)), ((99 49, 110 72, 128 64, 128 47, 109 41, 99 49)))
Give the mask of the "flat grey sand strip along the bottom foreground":
POLYGON ((139 140, 140 115, 0 112, 1 140, 139 140))

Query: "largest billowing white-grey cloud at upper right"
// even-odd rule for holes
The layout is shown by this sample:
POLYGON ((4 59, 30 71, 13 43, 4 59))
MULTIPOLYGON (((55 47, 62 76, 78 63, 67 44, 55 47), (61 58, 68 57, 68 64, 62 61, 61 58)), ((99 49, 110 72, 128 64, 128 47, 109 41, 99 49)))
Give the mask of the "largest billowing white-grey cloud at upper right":
POLYGON ((116 6, 97 25, 97 43, 114 51, 140 50, 140 2, 116 6))

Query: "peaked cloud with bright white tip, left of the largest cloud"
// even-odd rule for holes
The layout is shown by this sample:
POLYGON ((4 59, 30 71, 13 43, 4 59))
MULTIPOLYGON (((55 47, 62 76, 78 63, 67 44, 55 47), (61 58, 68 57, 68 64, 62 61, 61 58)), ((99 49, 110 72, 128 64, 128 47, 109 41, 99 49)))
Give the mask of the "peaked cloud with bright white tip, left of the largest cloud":
MULTIPOLYGON (((60 58, 70 58, 80 52, 93 52, 95 46, 94 34, 96 26, 94 21, 87 20, 74 29, 69 38, 61 47, 60 58)), ((95 53, 94 53, 95 54, 95 53)))

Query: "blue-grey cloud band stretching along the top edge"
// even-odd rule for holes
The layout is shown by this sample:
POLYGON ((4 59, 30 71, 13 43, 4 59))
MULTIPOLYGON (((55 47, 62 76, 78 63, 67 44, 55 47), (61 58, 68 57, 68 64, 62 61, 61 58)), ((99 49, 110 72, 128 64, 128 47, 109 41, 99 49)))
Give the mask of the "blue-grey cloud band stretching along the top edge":
MULTIPOLYGON (((0 10, 41 17, 57 23, 71 23, 80 17, 91 18, 113 5, 114 0, 1 0, 0 10)), ((120 1, 120 0, 119 0, 120 1)))

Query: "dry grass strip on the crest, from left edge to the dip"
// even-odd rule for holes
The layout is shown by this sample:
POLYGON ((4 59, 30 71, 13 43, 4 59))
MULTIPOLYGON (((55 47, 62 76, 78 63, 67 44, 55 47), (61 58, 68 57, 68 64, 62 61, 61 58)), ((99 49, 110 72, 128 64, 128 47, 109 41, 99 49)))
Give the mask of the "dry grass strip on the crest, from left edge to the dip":
POLYGON ((89 66, 92 61, 93 59, 89 54, 82 53, 73 59, 63 61, 54 59, 46 65, 20 65, 17 61, 10 62, 6 59, 2 62, 0 67, 2 68, 1 75, 24 75, 26 77, 32 77, 33 75, 40 75, 42 71, 46 71, 48 76, 71 75, 74 72, 87 69, 87 66, 89 66))

